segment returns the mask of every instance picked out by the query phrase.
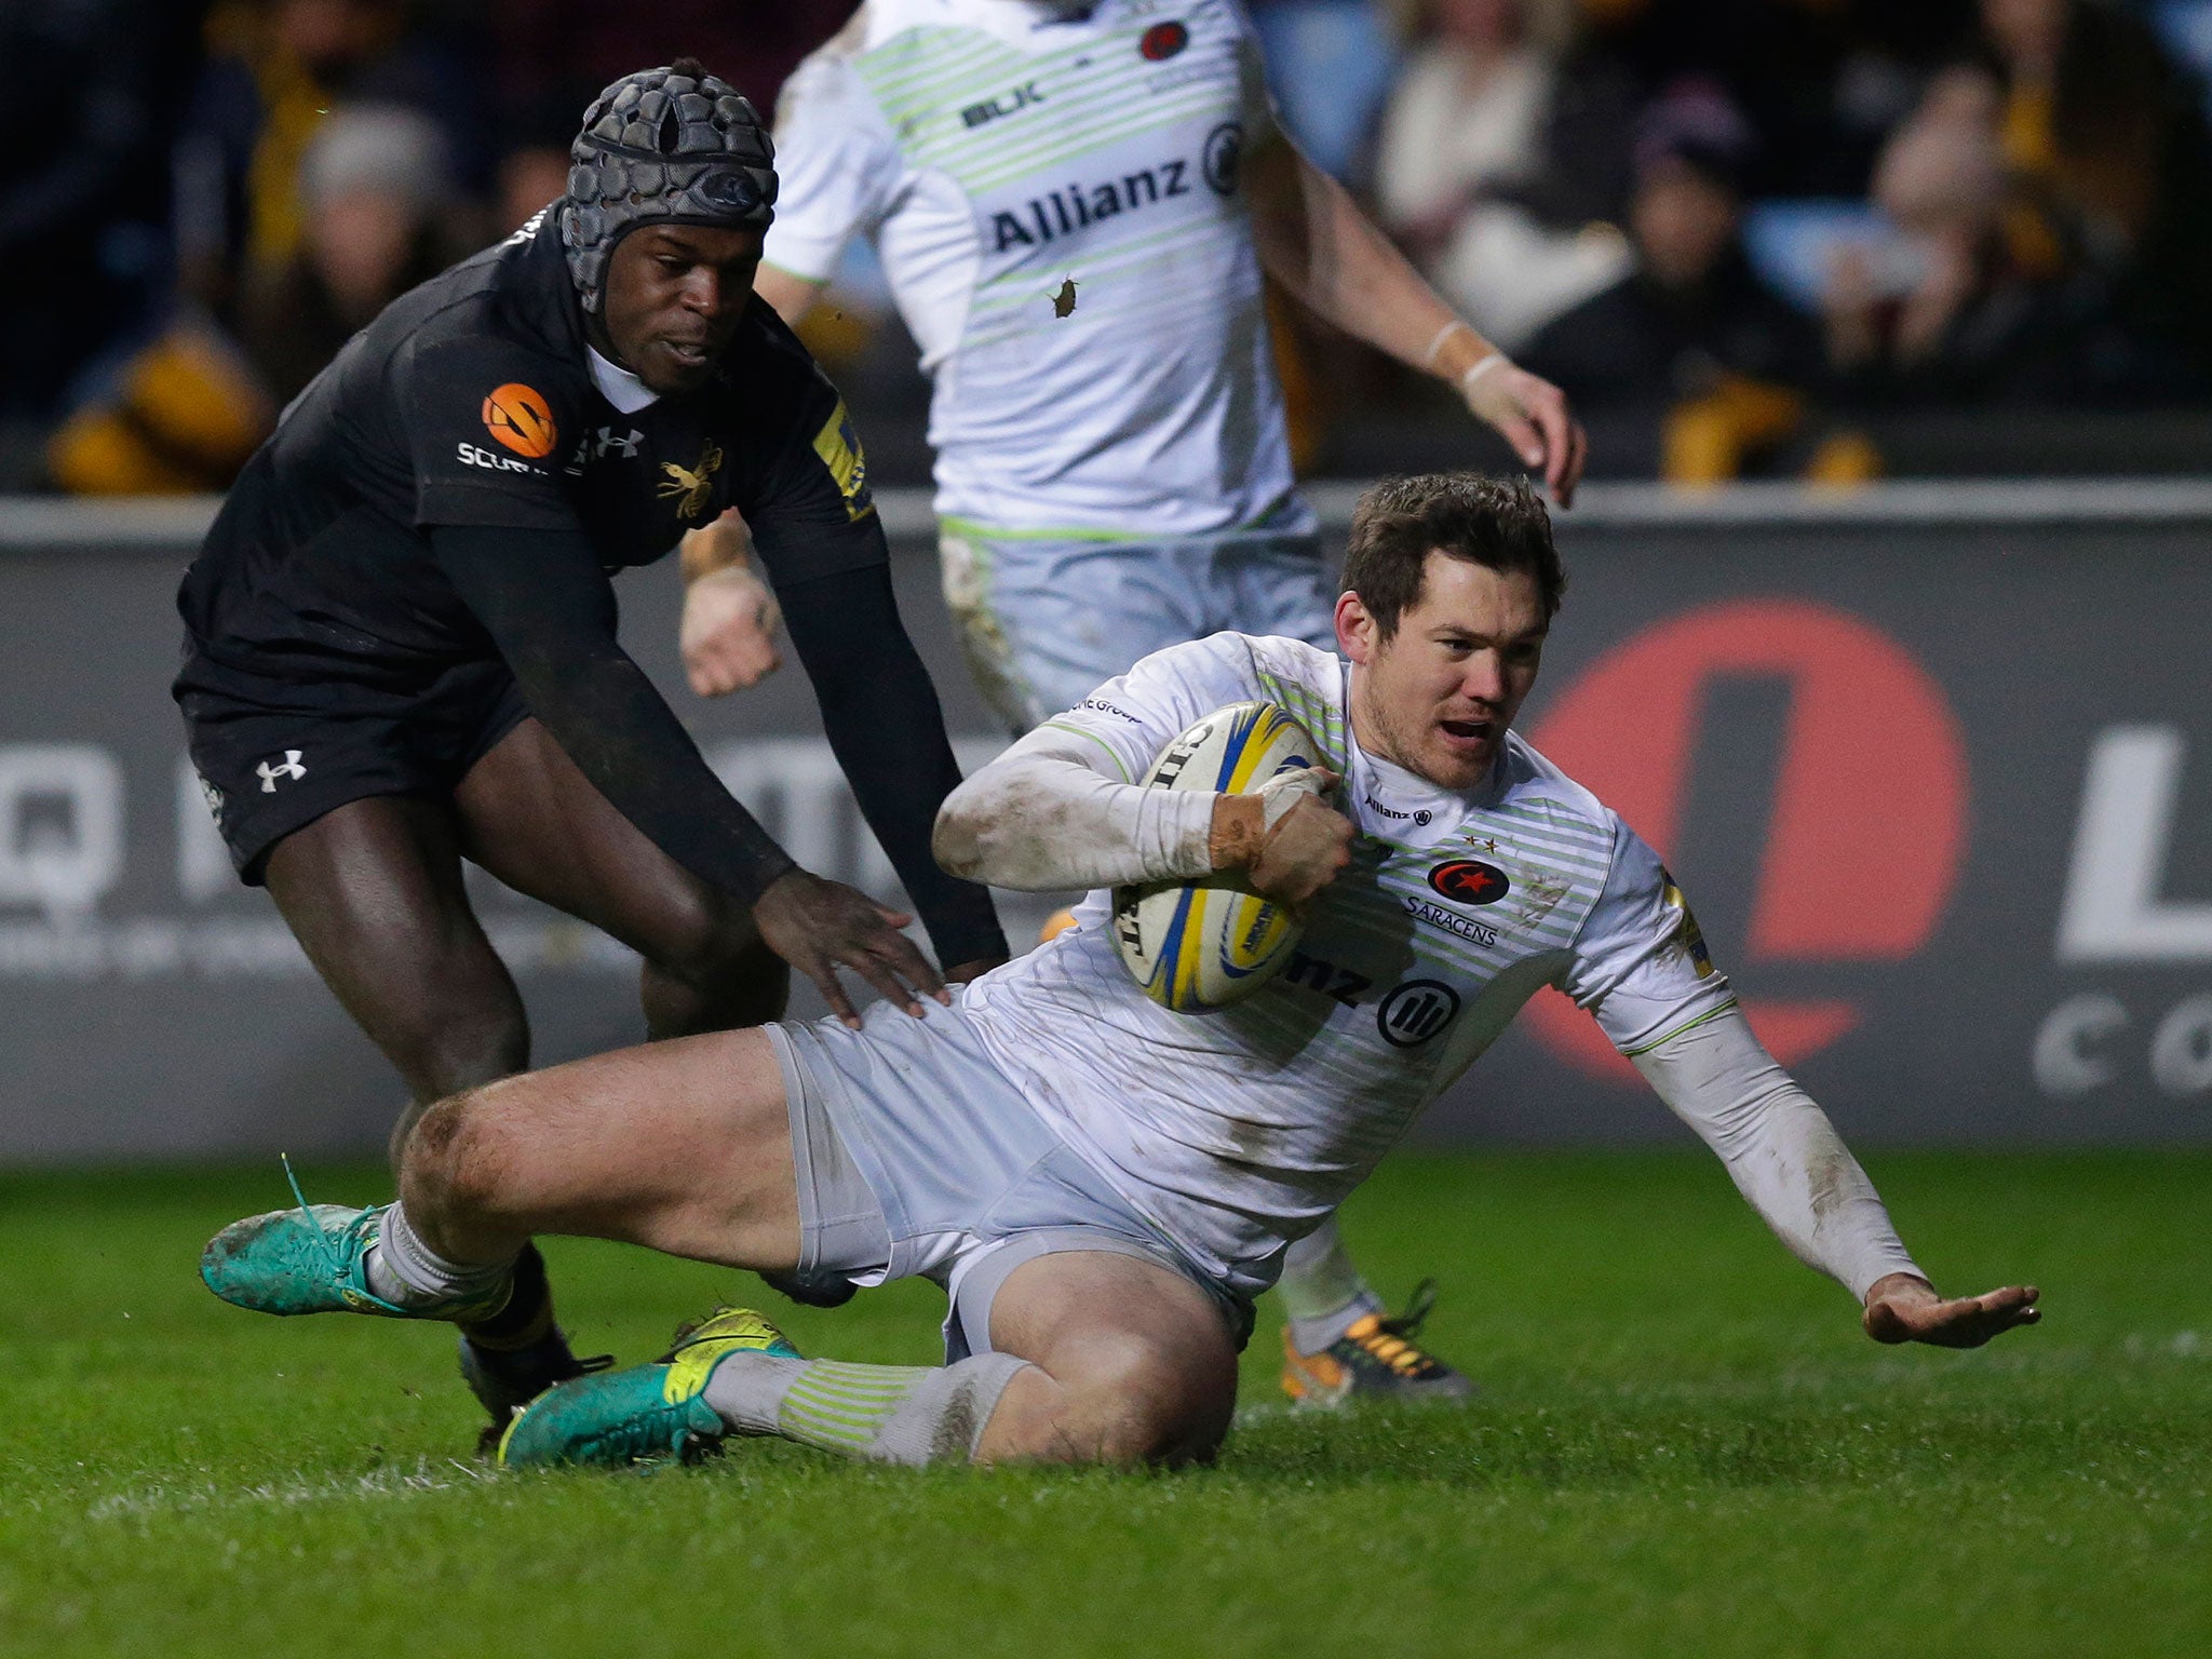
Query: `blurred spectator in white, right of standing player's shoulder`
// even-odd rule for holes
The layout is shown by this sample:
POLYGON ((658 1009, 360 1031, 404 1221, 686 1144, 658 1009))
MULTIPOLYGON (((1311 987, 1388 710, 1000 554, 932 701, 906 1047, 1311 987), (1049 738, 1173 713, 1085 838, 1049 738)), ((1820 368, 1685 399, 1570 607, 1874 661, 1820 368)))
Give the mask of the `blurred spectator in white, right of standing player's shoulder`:
POLYGON ((1628 265, 1626 86, 1568 55, 1571 0, 1422 0, 1376 155, 1383 223, 1506 349, 1628 265))

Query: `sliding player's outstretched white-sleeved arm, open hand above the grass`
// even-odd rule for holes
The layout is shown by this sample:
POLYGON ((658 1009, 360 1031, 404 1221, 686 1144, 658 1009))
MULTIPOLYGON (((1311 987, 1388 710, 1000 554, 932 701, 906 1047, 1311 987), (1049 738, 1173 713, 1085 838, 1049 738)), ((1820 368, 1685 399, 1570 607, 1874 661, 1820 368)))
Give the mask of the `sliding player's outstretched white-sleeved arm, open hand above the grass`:
POLYGON ((2033 1285, 1938 1296, 1827 1113, 1752 1033, 1681 889, 1626 827, 1606 894, 1577 938, 1568 991, 1719 1155, 1792 1254, 1860 1301, 1869 1336, 1980 1347, 2037 1321, 2033 1285))

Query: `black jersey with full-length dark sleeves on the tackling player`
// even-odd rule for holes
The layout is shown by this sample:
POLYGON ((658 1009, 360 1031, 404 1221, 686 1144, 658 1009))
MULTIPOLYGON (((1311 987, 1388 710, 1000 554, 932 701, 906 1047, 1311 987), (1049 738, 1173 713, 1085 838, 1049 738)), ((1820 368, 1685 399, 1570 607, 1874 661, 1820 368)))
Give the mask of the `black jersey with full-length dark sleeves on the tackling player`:
POLYGON ((285 409, 177 595, 188 655, 341 719, 352 686, 405 695, 504 659, 617 810, 752 902, 792 860, 622 653, 608 582, 726 507, 940 960, 1004 956, 989 894, 929 852, 960 772, 836 389, 754 301, 703 387, 619 411, 553 210, 403 294, 285 409))

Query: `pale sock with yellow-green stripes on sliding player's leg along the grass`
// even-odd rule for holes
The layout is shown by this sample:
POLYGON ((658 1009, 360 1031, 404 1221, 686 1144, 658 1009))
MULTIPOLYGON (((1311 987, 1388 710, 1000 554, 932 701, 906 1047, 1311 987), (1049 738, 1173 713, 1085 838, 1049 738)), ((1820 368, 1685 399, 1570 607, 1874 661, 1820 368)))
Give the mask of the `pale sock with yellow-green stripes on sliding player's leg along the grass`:
POLYGON ((958 1365, 845 1365, 732 1354, 706 1402, 737 1433, 772 1433, 867 1462, 969 1462, 998 1398, 1029 1360, 975 1354, 958 1365))

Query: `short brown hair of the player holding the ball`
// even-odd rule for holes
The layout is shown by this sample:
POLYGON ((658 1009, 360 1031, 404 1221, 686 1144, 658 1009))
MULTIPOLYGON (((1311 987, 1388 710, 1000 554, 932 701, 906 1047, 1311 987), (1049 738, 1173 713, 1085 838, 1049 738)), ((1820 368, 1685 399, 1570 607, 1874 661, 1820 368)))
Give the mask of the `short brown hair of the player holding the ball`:
POLYGON ((1566 568, 1551 544, 1551 513, 1526 478, 1482 473, 1416 473, 1385 478, 1352 509, 1345 586, 1389 639, 1398 617, 1420 604, 1429 553, 1528 571, 1544 599, 1544 619, 1559 611, 1566 568))

